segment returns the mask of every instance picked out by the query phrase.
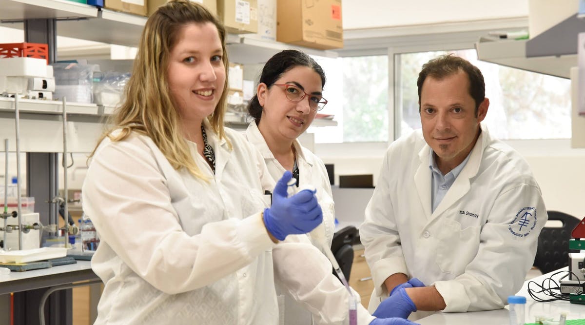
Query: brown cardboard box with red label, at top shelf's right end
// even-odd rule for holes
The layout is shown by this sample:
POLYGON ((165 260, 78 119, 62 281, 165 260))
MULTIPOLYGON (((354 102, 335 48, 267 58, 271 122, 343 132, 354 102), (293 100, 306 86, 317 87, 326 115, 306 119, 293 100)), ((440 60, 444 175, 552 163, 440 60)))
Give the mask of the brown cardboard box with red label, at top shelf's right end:
POLYGON ((278 0, 276 40, 315 49, 343 47, 341 0, 278 0))

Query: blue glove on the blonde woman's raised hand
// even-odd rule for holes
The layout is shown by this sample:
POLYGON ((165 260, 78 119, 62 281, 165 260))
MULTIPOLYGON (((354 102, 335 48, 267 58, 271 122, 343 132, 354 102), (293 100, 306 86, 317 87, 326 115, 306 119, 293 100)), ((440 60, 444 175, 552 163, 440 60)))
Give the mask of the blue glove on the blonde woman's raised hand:
POLYGON ((323 221, 314 191, 302 190, 287 197, 287 183, 291 178, 291 172, 284 172, 274 187, 272 206, 264 210, 264 225, 278 240, 290 234, 306 234, 323 221))

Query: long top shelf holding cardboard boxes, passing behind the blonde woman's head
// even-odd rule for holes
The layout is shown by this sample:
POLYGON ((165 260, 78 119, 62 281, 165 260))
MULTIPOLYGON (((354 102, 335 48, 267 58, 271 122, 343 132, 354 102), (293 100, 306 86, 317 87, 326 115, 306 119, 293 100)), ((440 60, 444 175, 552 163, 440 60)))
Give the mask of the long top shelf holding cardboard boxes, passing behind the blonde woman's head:
MULTIPOLYGON (((25 19, 57 19, 57 35, 108 44, 137 46, 146 17, 98 9, 67 0, 0 0, 0 25, 23 29, 25 19)), ((242 64, 265 63, 285 49, 298 49, 322 57, 338 57, 332 50, 263 40, 254 35, 228 34, 230 61, 242 64)))

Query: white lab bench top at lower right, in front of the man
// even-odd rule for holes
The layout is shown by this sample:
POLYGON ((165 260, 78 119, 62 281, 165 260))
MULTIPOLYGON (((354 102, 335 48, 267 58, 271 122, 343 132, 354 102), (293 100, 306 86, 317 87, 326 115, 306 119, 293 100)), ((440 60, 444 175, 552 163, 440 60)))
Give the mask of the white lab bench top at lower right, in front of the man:
MULTIPOLYGON (((517 296, 526 297, 525 321, 526 323, 534 323, 536 316, 548 316, 555 320, 559 319, 561 312, 568 312, 567 320, 571 319, 585 319, 585 305, 578 305, 569 303, 564 300, 555 302, 537 302, 528 295, 528 282, 534 281, 541 284, 544 279, 550 278, 554 273, 567 270, 562 268, 536 278, 526 280, 522 289, 518 291, 517 296)), ((558 283, 563 274, 553 276, 558 283)), ((545 283, 546 284, 546 283, 545 283)), ((551 283, 552 284, 552 283, 551 283)), ((531 288, 535 288, 532 287, 531 288)), ((544 297, 542 294, 539 297, 544 297)), ((421 325, 507 325, 510 324, 510 316, 508 306, 504 309, 486 310, 483 312, 467 312, 467 313, 434 313, 431 316, 424 317, 416 321, 421 325)))

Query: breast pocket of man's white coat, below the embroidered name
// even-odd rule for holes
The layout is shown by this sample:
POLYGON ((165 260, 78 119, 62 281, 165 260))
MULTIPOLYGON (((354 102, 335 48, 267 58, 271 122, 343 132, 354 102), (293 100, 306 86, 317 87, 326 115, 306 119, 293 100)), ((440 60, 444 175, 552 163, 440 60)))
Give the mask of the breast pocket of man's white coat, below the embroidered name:
POLYGON ((475 255, 479 243, 480 227, 461 228, 461 224, 455 220, 442 221, 437 234, 436 263, 441 271, 455 275, 465 271, 475 255))

